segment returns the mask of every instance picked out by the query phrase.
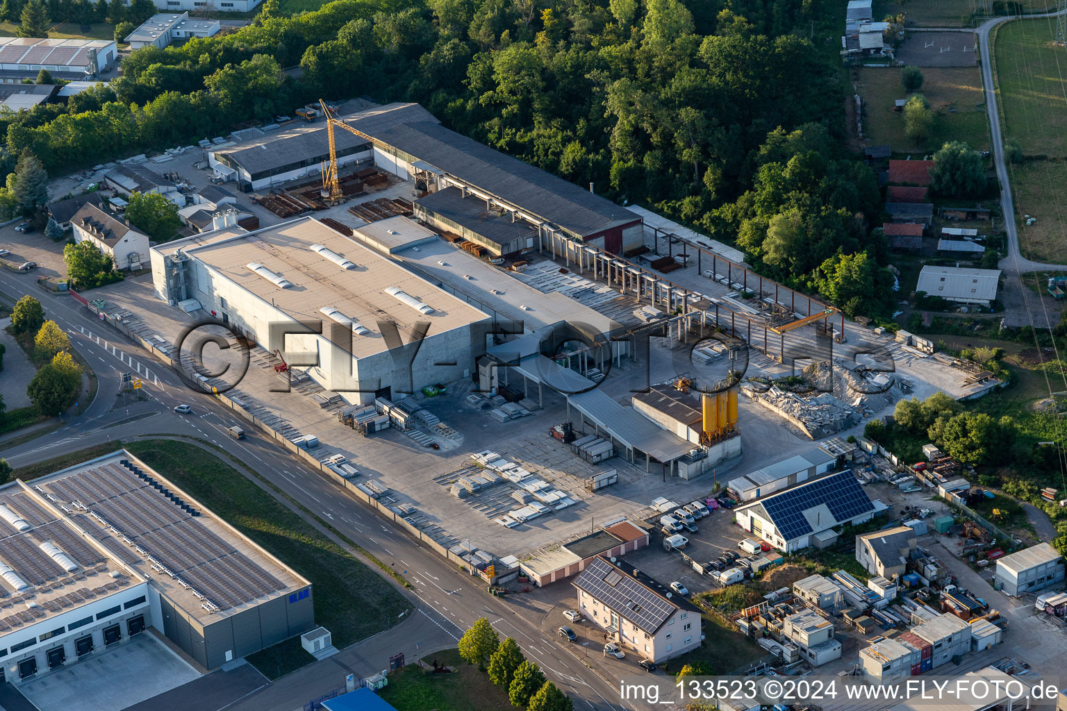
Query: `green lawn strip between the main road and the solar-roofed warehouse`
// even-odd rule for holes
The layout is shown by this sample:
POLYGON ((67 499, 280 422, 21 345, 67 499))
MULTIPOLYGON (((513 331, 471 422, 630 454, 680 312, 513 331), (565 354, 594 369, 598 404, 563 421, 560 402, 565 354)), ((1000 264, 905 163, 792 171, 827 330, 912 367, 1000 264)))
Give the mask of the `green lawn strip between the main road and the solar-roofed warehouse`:
MULTIPOLYGON (((387 629, 408 609, 393 585, 213 454, 172 440, 136 441, 126 448, 310 580, 315 621, 331 631, 335 646, 387 629)), ((294 658, 289 670, 300 661, 294 658)))

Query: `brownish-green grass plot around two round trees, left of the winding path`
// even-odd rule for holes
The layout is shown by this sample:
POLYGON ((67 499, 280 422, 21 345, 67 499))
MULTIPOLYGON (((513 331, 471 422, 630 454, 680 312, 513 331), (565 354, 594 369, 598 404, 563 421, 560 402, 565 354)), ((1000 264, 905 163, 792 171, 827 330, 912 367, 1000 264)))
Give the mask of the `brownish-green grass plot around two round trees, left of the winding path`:
POLYGON ((925 145, 904 134, 904 114, 893 111, 896 99, 907 98, 901 85, 901 69, 859 69, 859 93, 863 97, 863 134, 867 145, 889 144, 894 152, 924 152, 945 141, 966 141, 976 150, 989 149, 989 134, 982 97, 978 67, 927 67, 920 90, 937 114, 934 133, 925 145), (951 109, 955 109, 952 112, 951 109))

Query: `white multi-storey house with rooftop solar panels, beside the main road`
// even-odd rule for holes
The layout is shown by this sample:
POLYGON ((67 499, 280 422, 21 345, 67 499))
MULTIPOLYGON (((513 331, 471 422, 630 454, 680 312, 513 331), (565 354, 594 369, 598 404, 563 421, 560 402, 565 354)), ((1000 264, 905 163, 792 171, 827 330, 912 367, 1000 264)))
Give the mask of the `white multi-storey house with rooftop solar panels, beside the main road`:
POLYGON ((572 584, 578 611, 626 651, 658 663, 700 646, 700 610, 625 561, 598 556, 572 584))

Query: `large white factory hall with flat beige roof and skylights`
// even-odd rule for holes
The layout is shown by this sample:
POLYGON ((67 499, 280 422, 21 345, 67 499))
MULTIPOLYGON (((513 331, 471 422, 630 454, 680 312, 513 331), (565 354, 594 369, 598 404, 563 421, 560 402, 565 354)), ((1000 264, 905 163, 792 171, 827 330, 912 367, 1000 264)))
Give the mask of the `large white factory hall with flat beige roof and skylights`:
POLYGON ((310 217, 170 242, 153 248, 152 265, 157 296, 281 348, 290 366, 355 404, 471 377, 484 353, 483 312, 310 217), (297 333, 284 345, 271 336, 271 323, 298 330, 308 319, 323 322, 321 334, 297 333), (428 330, 416 350, 417 324, 428 330), (413 360, 395 355, 401 344, 413 360))

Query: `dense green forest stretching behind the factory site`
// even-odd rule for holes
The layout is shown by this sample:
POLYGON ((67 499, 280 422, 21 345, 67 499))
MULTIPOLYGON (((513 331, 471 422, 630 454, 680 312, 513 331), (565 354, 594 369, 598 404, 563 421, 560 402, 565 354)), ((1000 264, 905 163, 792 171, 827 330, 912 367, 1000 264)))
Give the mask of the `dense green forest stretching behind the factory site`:
POLYGON ((418 101, 461 133, 655 206, 736 243, 763 273, 877 316, 893 277, 872 231, 875 176, 843 149, 843 6, 337 0, 283 17, 266 0, 238 32, 138 50, 109 86, 0 116, 0 131, 9 156, 29 149, 55 172, 319 97, 418 101))

